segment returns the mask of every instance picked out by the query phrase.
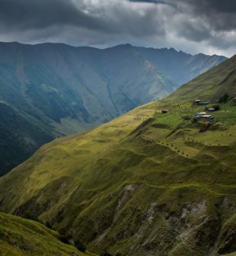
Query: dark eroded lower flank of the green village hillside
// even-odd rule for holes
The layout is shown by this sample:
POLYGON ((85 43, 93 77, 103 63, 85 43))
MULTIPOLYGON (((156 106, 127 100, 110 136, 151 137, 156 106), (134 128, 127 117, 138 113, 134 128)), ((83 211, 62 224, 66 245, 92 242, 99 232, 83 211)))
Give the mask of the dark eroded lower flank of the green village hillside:
POLYGON ((122 255, 176 256, 218 255, 236 249, 235 219, 228 218, 236 206, 227 196, 212 201, 211 196, 201 199, 203 193, 195 189, 181 188, 171 193, 158 189, 157 193, 155 187, 132 183, 99 199, 99 206, 96 198, 101 195, 95 193, 89 203, 75 207, 59 202, 59 194, 64 199, 72 196, 66 190, 69 180, 56 181, 53 190, 43 189, 14 214, 50 223, 63 235, 72 234, 75 241, 83 241, 92 251, 110 248, 122 255), (48 192, 54 196, 46 199, 48 192), (153 198, 152 203, 150 199, 145 202, 146 193, 153 198), (195 199, 187 202, 186 193, 189 198, 193 193, 195 199), (68 219, 72 211, 74 218, 68 219))

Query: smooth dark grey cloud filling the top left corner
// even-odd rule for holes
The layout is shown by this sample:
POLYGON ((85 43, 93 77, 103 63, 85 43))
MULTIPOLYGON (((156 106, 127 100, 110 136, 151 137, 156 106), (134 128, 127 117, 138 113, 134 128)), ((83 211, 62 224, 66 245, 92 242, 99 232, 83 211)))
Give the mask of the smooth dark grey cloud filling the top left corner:
POLYGON ((40 29, 53 25, 80 25, 107 29, 106 24, 86 15, 72 0, 1 0, 0 21, 11 29, 40 29))

